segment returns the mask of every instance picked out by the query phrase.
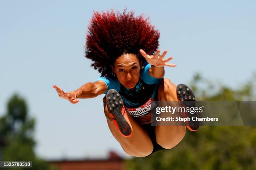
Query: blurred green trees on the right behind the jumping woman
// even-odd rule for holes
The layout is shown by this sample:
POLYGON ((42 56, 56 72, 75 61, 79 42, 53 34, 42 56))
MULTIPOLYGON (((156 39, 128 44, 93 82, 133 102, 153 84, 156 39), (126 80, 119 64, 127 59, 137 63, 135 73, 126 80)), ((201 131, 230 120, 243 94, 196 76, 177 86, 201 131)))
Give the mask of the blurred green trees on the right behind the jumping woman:
MULTIPOLYGON (((255 78, 232 89, 195 75, 190 83, 197 100, 255 100, 255 78)), ((187 130, 184 139, 170 150, 126 161, 128 170, 256 170, 256 127, 201 126, 187 130)))

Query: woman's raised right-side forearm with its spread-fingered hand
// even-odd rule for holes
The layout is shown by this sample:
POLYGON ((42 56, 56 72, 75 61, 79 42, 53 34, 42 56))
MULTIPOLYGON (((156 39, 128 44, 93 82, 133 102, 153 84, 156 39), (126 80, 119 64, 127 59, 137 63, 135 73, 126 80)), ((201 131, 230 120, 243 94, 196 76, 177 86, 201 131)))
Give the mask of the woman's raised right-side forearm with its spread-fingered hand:
POLYGON ((172 60, 172 57, 167 59, 163 59, 167 53, 167 50, 164 50, 162 55, 160 54, 160 50, 156 51, 155 55, 147 55, 144 50, 140 50, 141 55, 146 59, 146 61, 151 64, 151 69, 149 69, 149 74, 155 78, 164 77, 164 66, 175 67, 176 64, 169 64, 168 61, 172 60))

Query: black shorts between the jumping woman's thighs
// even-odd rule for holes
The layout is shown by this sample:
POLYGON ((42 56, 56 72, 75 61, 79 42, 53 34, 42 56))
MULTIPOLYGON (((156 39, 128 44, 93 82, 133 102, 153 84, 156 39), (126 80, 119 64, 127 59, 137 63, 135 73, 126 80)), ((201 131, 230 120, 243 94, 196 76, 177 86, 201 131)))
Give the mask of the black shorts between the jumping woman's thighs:
POLYGON ((156 143, 156 131, 155 131, 156 126, 151 126, 151 123, 149 123, 146 125, 141 125, 141 127, 146 130, 149 138, 151 139, 151 141, 153 143, 154 149, 153 149, 152 153, 159 151, 159 150, 166 150, 165 148, 161 147, 158 143, 156 143))

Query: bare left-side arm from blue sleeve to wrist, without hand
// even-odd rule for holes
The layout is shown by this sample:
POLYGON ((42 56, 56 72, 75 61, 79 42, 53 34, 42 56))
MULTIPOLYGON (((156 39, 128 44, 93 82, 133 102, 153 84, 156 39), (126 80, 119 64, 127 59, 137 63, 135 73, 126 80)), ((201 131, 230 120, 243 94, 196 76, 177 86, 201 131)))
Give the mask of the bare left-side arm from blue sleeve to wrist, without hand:
POLYGON ((105 84, 100 82, 88 82, 79 87, 77 90, 74 90, 74 92, 77 93, 77 98, 93 98, 105 92, 108 88, 105 86, 105 84))

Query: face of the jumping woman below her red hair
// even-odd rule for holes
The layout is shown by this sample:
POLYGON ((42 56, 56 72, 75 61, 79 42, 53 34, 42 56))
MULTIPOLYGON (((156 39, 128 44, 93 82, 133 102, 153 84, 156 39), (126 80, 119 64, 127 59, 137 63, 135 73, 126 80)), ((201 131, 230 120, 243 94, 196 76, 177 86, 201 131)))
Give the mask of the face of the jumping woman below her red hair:
POLYGON ((140 79, 140 63, 136 55, 124 54, 115 60, 113 73, 126 88, 133 88, 140 79))

